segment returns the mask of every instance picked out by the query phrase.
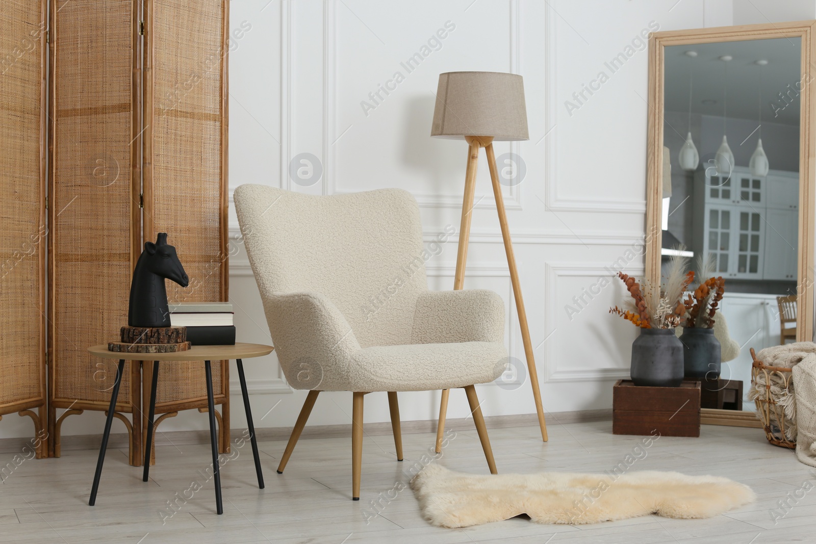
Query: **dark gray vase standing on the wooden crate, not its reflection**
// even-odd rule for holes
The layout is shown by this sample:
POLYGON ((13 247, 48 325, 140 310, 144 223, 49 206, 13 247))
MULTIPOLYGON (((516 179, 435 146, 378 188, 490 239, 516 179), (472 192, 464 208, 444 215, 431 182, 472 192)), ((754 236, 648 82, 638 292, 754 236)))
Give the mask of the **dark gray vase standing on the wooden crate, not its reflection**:
POLYGON ((683 343, 674 329, 641 329, 632 343, 632 382, 644 387, 680 387, 683 343))

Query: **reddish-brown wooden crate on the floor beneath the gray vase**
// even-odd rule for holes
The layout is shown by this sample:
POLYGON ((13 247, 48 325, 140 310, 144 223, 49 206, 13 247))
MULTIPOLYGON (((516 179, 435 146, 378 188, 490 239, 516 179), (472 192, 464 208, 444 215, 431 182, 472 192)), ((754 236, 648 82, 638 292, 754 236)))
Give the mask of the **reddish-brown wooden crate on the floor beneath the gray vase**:
POLYGON ((700 436, 700 383, 636 387, 618 380, 612 390, 614 435, 700 436))

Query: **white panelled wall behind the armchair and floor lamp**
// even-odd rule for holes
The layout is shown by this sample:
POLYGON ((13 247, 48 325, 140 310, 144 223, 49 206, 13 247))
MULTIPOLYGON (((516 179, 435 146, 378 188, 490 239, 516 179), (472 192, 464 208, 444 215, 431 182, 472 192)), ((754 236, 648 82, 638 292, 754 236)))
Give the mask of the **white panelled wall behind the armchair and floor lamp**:
MULTIPOLYGON (((765 11, 764 2, 754 2, 765 11)), ((233 29, 242 23, 251 29, 235 40, 229 60, 231 188, 255 183, 334 193, 401 187, 419 200, 428 239, 447 224, 458 229, 466 146, 428 137, 438 74, 520 73, 530 140, 497 144, 496 153, 517 153, 526 164, 526 178, 505 198, 544 407, 552 412, 609 408, 612 383, 628 376, 636 334, 608 313, 622 301, 623 289, 610 282, 594 299, 584 295, 587 303, 581 308, 572 299, 599 278, 611 279, 618 268, 609 267, 619 259, 628 262, 626 272, 643 271, 648 54, 645 48, 635 51, 637 38, 650 24, 660 30, 732 24, 738 11, 732 4, 738 2, 232 0, 233 29), (455 29, 441 48, 413 72, 401 69, 401 61, 420 51, 447 21, 455 29), (604 63, 628 46, 631 58, 610 73, 604 63), (405 81, 366 115, 361 101, 398 70, 405 81), (577 104, 573 93, 601 71, 608 81, 577 104), (566 100, 579 107, 568 109, 566 100), (308 188, 290 183, 288 163, 299 153, 320 158, 320 183, 308 188), (567 304, 579 312, 569 316, 567 304)), ((800 8, 809 15, 792 19, 814 16, 813 2, 800 8)), ((758 20, 759 12, 743 10, 739 16, 740 23, 766 22, 758 20), (744 20, 751 17, 755 20, 744 20)), ((483 157, 479 168, 466 287, 490 288, 503 296, 508 347, 523 359, 483 157)), ((231 213, 234 236, 238 226, 231 213)), ((457 241, 452 238, 428 263, 432 288, 452 287, 457 241)), ((271 343, 241 249, 230 260, 238 339, 271 343)), ((255 424, 294 424, 305 393, 286 385, 275 356, 248 360, 246 369, 255 424)), ((232 375, 233 427, 238 428, 245 421, 234 366, 232 375)), ((534 413, 529 381, 519 391, 494 385, 477 389, 487 415, 534 413)), ((438 391, 401 394, 401 416, 436 418, 438 399, 438 391)), ((468 412, 463 393, 454 391, 450 417, 468 412)), ((323 393, 309 424, 348 423, 350 414, 349 393, 323 393)), ((366 420, 388 420, 385 395, 366 397, 366 420)), ((66 418, 63 431, 98 433, 102 421, 101 413, 86 412, 66 418)), ((162 423, 162 431, 206 425, 202 414, 188 411, 162 423)), ((30 427, 27 418, 9 415, 0 424, 0 436, 29 436, 30 427)))

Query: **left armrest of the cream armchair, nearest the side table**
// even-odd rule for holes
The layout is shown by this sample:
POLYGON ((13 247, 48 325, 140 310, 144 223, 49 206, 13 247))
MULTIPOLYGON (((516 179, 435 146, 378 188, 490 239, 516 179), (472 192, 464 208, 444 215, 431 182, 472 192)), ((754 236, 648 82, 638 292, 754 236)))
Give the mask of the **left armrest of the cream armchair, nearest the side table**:
POLYGON ((323 294, 273 294, 264 300, 269 331, 286 380, 295 389, 319 389, 344 374, 360 344, 351 325, 323 294))

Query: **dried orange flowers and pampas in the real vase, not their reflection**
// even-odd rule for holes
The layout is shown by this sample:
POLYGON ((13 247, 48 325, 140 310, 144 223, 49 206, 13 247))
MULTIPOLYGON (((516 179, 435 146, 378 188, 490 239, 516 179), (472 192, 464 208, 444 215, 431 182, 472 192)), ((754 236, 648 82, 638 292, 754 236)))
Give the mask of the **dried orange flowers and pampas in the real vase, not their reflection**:
POLYGON ((623 309, 615 306, 610 313, 617 314, 641 329, 672 329, 681 325, 686 314, 683 293, 694 281, 694 272, 685 272, 685 257, 677 251, 668 263, 665 282, 651 285, 645 278, 639 284, 632 276, 618 272, 618 277, 626 284, 632 300, 623 309))

